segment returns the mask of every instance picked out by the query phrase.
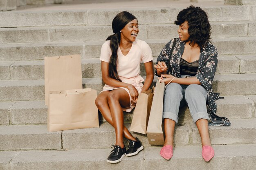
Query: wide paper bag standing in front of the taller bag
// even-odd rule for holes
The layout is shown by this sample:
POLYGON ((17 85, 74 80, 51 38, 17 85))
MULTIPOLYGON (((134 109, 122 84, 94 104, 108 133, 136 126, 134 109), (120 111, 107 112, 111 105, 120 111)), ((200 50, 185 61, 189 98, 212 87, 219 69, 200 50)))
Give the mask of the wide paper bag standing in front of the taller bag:
POLYGON ((47 129, 50 132, 99 127, 96 90, 91 88, 49 92, 47 129))

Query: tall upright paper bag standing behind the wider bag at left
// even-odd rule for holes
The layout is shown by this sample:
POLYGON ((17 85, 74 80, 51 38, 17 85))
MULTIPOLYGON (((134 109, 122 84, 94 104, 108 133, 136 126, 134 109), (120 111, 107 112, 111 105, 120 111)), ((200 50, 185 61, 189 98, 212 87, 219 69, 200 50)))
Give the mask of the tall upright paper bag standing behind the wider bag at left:
POLYGON ((45 57, 45 104, 49 91, 81 89, 81 55, 45 57))

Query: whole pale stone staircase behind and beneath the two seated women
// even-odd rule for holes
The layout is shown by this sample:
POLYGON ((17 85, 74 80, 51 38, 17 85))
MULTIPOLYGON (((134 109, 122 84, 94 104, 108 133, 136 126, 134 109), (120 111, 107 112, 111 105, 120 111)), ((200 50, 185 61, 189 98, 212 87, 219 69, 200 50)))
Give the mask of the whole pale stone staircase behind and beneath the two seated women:
MULTIPOLYGON (((101 4, 58 4, 0 12, 0 170, 252 170, 256 167, 256 6, 200 2, 209 14, 212 41, 219 52, 213 90, 225 96, 217 101, 218 115, 231 119, 230 127, 210 127, 215 157, 205 163, 201 141, 187 107, 180 110, 175 149, 170 161, 150 146, 146 135, 133 133, 145 149, 118 164, 106 162, 115 130, 101 117, 99 128, 47 131, 44 96, 44 57, 81 54, 83 87, 102 88, 100 49, 112 34, 119 11, 134 14, 138 38, 156 57, 177 37, 172 24, 185 0, 137 0, 101 4), (152 2, 152 3, 151 3, 152 2), (135 2, 134 2, 135 3, 135 2), (121 8, 120 8, 121 7, 121 8)), ((141 75, 146 76, 143 64, 141 75)), ((129 128, 132 114, 125 113, 129 128)))

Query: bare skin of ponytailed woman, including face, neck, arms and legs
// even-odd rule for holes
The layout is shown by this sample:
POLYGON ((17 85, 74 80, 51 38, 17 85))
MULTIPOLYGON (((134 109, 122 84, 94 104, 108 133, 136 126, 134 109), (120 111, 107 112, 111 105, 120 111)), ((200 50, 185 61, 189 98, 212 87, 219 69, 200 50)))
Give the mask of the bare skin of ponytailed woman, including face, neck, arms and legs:
MULTIPOLYGON (((137 20, 132 20, 129 22, 122 30, 121 30, 121 41, 119 47, 121 52, 124 55, 127 55, 131 49, 132 42, 136 40, 136 37, 131 36, 131 33, 138 33, 138 22, 137 20)), ((127 88, 130 92, 130 96, 132 100, 130 101, 129 94, 126 90, 122 88, 118 88, 112 91, 104 91, 101 92, 97 99, 95 100, 95 104, 100 110, 103 117, 108 121, 114 128, 116 133, 116 144, 121 148, 124 148, 124 139, 135 140, 135 137, 129 132, 129 130, 124 126, 124 114, 122 108, 130 108, 130 104, 133 106, 137 103, 137 98, 139 93, 135 86, 131 84, 127 84, 124 82, 119 82, 116 79, 113 79, 108 74, 108 62, 101 61, 101 72, 102 79, 105 84, 108 84, 112 87, 124 87, 127 88)), ((144 63, 146 69, 146 79, 144 82, 144 86, 141 92, 147 91, 153 82, 154 71, 153 71, 153 61, 144 63)))

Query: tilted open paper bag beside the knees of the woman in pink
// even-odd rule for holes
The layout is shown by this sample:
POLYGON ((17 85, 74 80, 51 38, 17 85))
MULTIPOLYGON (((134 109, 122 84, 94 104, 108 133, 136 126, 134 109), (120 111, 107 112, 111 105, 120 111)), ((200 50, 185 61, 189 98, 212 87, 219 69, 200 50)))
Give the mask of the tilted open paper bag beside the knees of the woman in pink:
POLYGON ((131 131, 146 134, 154 91, 155 87, 153 86, 150 90, 139 93, 133 112, 131 131))

